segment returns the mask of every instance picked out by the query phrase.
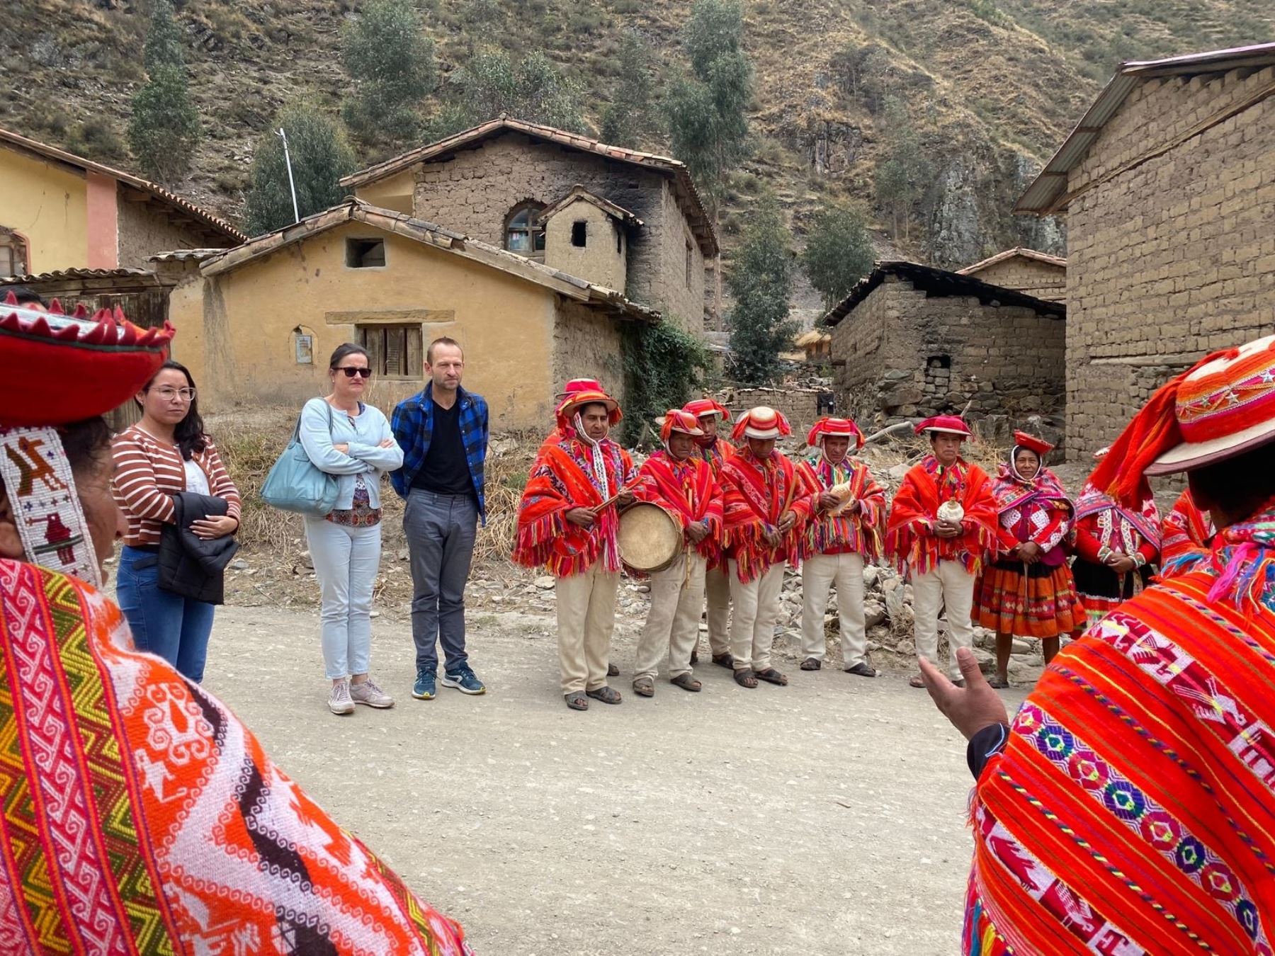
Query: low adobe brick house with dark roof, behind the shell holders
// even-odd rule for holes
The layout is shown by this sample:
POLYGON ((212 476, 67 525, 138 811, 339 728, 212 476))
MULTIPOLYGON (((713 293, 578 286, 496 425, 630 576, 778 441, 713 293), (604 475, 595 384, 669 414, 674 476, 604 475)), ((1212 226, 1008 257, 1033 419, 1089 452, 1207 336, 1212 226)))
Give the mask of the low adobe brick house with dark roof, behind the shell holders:
POLYGON ((884 261, 822 322, 836 408, 868 427, 968 408, 1000 437, 1063 410, 1066 308, 917 263, 884 261))

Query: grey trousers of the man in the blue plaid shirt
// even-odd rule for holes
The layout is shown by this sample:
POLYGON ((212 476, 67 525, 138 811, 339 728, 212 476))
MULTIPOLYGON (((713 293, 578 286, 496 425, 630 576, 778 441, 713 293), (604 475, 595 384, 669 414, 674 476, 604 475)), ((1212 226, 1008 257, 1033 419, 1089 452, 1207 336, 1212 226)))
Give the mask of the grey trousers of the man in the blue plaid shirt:
POLYGON ((403 533, 412 553, 412 641, 416 668, 465 667, 465 583, 478 535, 478 502, 472 495, 435 495, 412 488, 403 512, 403 533))

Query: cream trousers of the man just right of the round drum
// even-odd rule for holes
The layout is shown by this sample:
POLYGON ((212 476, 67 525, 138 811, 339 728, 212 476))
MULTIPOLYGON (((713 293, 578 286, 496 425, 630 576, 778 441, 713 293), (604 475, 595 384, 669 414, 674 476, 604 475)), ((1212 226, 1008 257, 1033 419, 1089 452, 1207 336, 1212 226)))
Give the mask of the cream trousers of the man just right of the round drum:
POLYGON ((691 651, 700 639, 705 566, 700 554, 687 551, 650 576, 650 612, 638 637, 635 681, 655 677, 666 651, 669 678, 691 673, 691 651))

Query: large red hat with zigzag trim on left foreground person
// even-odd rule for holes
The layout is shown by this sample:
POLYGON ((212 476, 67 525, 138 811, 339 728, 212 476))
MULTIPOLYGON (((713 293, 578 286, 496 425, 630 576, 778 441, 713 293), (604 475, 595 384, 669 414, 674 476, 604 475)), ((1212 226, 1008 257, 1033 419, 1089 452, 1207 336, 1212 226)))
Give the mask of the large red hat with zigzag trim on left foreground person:
POLYGON ((115 308, 65 315, 0 305, 0 343, 9 381, 0 390, 0 424, 66 424, 119 408, 168 357, 173 328, 142 329, 115 308))

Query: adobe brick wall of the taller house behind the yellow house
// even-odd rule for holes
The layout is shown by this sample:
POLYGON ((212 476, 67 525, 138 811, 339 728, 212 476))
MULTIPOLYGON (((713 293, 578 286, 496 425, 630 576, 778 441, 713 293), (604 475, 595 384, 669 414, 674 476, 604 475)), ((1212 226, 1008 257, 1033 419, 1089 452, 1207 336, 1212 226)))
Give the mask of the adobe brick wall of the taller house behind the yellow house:
POLYGON ((630 236, 626 294, 677 316, 690 331, 703 331, 704 255, 692 240, 687 289, 685 237, 690 231, 662 173, 507 133, 444 162, 422 164, 413 209, 417 218, 504 246, 505 219, 515 205, 527 200, 550 205, 575 185, 644 222, 630 236))

